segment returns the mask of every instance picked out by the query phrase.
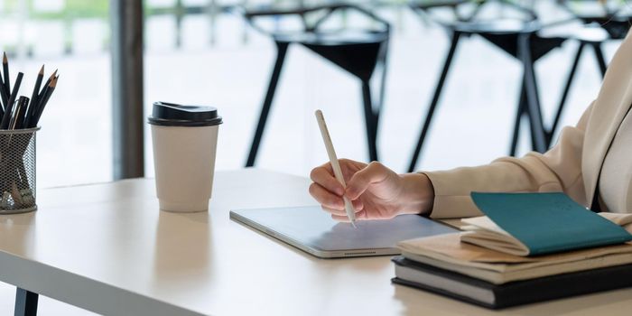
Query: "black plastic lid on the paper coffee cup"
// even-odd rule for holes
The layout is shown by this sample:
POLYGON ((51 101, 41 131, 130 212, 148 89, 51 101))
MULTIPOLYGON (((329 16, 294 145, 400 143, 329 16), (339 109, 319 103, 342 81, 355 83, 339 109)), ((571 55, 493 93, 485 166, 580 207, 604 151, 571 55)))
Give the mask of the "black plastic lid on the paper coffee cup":
POLYGON ((154 102, 149 124, 163 126, 210 126, 222 124, 215 107, 181 106, 167 102, 154 102))

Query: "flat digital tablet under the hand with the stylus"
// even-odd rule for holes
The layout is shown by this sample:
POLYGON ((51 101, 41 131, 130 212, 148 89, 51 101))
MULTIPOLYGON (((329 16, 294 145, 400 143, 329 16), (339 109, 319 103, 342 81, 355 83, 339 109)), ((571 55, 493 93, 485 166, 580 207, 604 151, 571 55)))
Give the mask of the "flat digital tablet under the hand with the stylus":
POLYGON ((358 220, 353 228, 320 206, 231 210, 230 218, 321 258, 393 256, 399 241, 458 231, 419 215, 358 220))

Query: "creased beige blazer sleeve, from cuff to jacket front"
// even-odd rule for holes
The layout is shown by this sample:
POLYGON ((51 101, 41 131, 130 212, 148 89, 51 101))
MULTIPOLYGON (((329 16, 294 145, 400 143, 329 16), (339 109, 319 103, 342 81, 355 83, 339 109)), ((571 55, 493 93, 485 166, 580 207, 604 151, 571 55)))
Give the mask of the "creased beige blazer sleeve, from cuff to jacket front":
POLYGON ((562 129, 558 143, 544 154, 528 153, 522 158, 500 158, 479 167, 423 172, 428 175, 434 187, 431 217, 463 218, 481 215, 469 197, 471 191, 564 191, 573 200, 586 205, 581 177, 581 153, 591 110, 592 104, 577 125, 562 129))

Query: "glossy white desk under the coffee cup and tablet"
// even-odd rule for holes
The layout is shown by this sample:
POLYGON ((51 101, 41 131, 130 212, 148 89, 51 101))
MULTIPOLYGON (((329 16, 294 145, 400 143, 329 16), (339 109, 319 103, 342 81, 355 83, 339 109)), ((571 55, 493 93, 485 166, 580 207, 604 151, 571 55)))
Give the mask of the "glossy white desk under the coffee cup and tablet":
MULTIPOLYGON (((0 217, 0 280, 111 315, 482 315, 390 283, 388 257, 317 259, 228 218, 229 209, 313 205, 307 179, 218 172, 209 213, 158 210, 152 179, 39 192, 0 217)), ((629 315, 632 290, 501 311, 629 315)))

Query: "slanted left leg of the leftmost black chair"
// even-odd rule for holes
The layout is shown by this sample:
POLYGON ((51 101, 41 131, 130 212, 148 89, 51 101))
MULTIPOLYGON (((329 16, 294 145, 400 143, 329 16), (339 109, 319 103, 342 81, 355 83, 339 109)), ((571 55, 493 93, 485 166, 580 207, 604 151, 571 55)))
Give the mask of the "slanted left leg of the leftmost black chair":
POLYGON ((255 136, 253 137, 252 144, 250 145, 250 153, 248 153, 248 159, 246 161, 246 167, 252 167, 255 165, 256 154, 259 151, 259 144, 261 144, 261 138, 264 135, 265 123, 267 122, 268 114, 270 113, 270 107, 272 106, 272 100, 274 99, 274 92, 276 91, 276 84, 279 82, 279 76, 283 69, 283 61, 285 60, 285 53, 287 52, 287 42, 276 43, 276 62, 274 63, 274 70, 272 71, 272 77, 268 85, 268 90, 265 93, 264 105, 261 107, 261 114, 259 114, 259 123, 256 125, 255 136))

